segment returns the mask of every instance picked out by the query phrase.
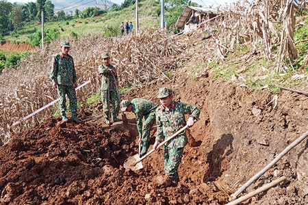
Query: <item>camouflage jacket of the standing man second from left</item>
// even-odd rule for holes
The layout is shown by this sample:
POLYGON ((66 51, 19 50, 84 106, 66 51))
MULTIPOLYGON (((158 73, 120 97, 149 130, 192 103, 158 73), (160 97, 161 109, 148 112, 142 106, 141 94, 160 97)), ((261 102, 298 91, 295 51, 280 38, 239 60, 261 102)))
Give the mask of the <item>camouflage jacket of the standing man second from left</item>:
POLYGON ((108 90, 108 80, 110 89, 116 90, 116 85, 114 85, 114 79, 118 81, 118 75, 113 76, 110 70, 116 71, 116 68, 114 68, 112 64, 109 64, 109 66, 106 66, 104 64, 99 66, 99 75, 101 76, 101 90, 108 90))

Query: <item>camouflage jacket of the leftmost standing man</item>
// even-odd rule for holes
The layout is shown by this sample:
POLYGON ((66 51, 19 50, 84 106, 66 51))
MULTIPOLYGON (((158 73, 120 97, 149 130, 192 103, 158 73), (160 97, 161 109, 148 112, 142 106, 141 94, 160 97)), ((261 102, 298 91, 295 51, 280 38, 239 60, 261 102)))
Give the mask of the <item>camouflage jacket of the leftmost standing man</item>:
POLYGON ((77 81, 73 57, 64 57, 62 53, 53 56, 51 62, 51 80, 57 85, 73 85, 77 81))

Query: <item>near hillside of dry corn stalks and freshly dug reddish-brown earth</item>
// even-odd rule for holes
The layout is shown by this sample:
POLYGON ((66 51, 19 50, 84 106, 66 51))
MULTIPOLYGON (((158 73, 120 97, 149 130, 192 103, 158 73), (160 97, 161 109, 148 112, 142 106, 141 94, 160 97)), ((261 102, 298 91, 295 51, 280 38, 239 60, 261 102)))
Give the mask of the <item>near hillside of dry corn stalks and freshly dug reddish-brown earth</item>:
MULTIPOLYGON (((57 108, 49 107, 11 126, 57 98, 49 65, 60 42, 22 61, 17 70, 4 70, 0 123, 10 135, 0 147, 0 204, 227 204, 232 193, 307 131, 308 120, 307 95, 279 88, 307 90, 305 67, 288 70, 284 63, 278 72, 283 61, 276 51, 282 44, 272 47, 276 50, 268 59, 264 39, 253 29, 230 32, 231 19, 224 18, 209 38, 199 32, 170 37, 153 27, 123 38, 70 39, 79 84, 91 81, 78 91, 83 124, 61 122, 57 108), (244 34, 246 41, 238 38, 244 34), (101 103, 88 100, 99 92, 97 66, 106 51, 126 90, 122 99, 158 104, 159 87, 168 86, 175 100, 201 109, 178 184, 164 177, 162 150, 144 159, 143 169, 123 167, 138 152, 134 116, 127 113, 128 126, 107 126, 101 103)), ((297 30, 306 27, 305 19, 296 17, 297 30)), ((240 20, 236 25, 244 26, 240 20)), ((304 59, 305 51, 298 51, 304 59)), ((155 128, 151 136, 153 144, 155 128)), ((307 154, 305 139, 239 196, 281 176, 287 180, 242 204, 307 204, 307 154)))

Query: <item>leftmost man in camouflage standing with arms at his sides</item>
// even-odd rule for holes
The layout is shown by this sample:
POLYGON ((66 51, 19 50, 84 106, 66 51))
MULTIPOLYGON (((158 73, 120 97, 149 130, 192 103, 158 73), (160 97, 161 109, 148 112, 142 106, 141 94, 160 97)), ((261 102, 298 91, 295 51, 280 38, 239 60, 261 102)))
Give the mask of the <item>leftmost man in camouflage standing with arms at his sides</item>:
POLYGON ((75 88, 77 87, 76 70, 74 66, 73 57, 68 55, 70 51, 70 43, 61 43, 61 53, 57 53, 53 56, 51 63, 51 80, 53 81, 53 87, 57 88, 60 95, 60 112, 62 120, 68 121, 66 117, 66 98, 68 96, 70 100, 70 110, 72 111, 72 117, 70 120, 81 123, 77 118, 77 96, 75 88))

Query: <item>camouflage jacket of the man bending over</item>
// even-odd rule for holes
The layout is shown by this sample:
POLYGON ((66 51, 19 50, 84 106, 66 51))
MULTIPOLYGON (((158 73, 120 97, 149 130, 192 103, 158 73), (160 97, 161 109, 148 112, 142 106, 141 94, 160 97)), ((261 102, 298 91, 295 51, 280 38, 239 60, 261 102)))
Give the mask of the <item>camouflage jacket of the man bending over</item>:
POLYGON ((150 100, 144 100, 142 98, 134 98, 131 100, 132 111, 136 115, 137 128, 139 135, 142 136, 142 118, 149 113, 155 113, 157 105, 150 100))

